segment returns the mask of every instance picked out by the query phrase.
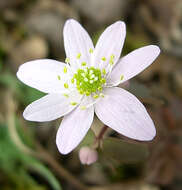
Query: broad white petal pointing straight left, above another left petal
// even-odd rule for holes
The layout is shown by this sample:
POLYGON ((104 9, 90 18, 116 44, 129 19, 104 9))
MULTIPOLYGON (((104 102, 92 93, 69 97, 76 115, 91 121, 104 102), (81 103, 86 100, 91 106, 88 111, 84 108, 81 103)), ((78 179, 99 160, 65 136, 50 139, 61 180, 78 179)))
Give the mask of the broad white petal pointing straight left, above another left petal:
POLYGON ((63 92, 63 83, 70 77, 69 68, 66 74, 63 72, 65 66, 64 63, 50 59, 30 61, 19 67, 17 77, 26 85, 45 93, 63 92))

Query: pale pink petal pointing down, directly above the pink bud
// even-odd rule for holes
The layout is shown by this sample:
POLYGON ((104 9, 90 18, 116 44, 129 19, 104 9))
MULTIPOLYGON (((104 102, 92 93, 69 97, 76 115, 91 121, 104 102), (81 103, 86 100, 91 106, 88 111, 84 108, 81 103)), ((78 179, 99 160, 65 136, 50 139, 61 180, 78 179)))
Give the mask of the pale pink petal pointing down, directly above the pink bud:
POLYGON ((78 106, 63 118, 56 136, 60 153, 68 154, 81 142, 92 124, 93 117, 93 106, 85 110, 78 106))

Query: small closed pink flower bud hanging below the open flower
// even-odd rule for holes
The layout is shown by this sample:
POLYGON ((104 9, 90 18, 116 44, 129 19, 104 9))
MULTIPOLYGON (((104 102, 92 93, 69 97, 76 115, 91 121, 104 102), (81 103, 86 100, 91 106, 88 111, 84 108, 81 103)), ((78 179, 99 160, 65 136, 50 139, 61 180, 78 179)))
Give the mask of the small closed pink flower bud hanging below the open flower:
POLYGON ((82 164, 90 165, 97 161, 98 154, 96 150, 85 146, 80 149, 79 158, 82 164))

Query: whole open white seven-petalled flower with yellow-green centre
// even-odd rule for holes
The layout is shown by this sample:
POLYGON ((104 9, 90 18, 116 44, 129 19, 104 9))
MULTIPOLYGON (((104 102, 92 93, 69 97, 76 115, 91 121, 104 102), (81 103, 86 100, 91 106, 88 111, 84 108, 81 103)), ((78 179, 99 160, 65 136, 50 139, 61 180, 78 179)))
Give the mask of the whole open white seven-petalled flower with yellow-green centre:
POLYGON ((45 122, 64 116, 56 137, 62 154, 80 143, 92 124, 94 112, 122 135, 152 140, 156 130, 143 104, 115 86, 148 67, 160 49, 149 45, 120 59, 126 35, 121 21, 106 28, 95 48, 88 33, 73 19, 66 22, 63 34, 66 64, 39 59, 21 65, 17 72, 22 82, 47 93, 25 109, 24 118, 45 122))

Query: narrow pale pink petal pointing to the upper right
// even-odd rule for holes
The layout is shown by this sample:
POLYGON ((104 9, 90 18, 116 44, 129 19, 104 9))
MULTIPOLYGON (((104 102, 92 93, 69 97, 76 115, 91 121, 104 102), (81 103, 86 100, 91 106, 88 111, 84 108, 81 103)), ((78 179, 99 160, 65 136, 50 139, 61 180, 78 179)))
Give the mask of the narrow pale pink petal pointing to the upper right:
POLYGON ((113 68, 108 83, 118 85, 146 69, 160 54, 158 46, 149 45, 132 51, 124 56, 113 68), (121 76, 123 79, 120 80, 121 76))

